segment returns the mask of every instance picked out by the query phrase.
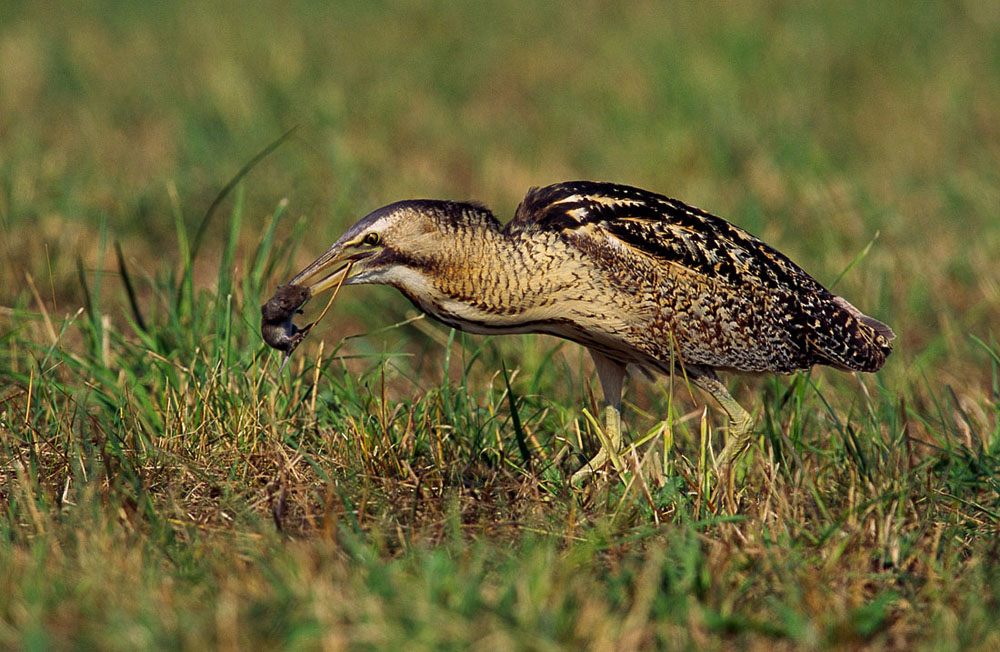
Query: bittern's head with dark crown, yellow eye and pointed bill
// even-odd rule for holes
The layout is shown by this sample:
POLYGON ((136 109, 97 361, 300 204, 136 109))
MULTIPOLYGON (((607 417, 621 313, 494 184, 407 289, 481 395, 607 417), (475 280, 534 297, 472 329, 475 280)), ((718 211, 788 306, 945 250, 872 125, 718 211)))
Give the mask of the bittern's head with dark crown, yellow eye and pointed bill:
POLYGON ((399 285, 407 271, 435 266, 450 236, 479 221, 495 223, 476 204, 418 199, 383 206, 349 228, 291 284, 307 286, 312 296, 341 283, 399 285))

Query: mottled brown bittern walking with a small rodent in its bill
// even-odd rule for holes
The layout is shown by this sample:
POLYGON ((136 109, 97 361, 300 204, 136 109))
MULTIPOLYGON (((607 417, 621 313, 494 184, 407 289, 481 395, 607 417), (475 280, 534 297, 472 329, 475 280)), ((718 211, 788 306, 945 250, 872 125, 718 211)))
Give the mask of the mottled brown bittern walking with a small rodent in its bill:
MULTIPOLYGON (((743 229, 612 183, 533 188, 506 226, 475 203, 390 204, 348 229, 279 294, 307 298, 341 283, 394 286, 431 317, 470 333, 547 333, 582 344, 604 392, 612 450, 621 447, 626 368, 682 375, 729 416, 718 464, 730 483, 753 420, 717 371, 873 372, 894 338, 743 229)), ((279 298, 272 339, 297 344, 290 317, 298 305, 279 298)), ((608 456, 602 447, 573 481, 608 456)))

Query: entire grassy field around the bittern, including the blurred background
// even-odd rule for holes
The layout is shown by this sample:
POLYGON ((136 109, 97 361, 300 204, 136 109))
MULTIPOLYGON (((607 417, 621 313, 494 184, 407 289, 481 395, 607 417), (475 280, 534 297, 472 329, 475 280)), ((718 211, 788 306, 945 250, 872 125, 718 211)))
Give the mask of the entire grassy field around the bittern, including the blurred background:
POLYGON ((0 61, 0 647, 1000 645, 991 3, 17 3, 0 61), (276 376, 259 306, 354 220, 572 178, 899 335, 874 376, 730 379, 736 513, 705 396, 630 381, 644 443, 573 490, 582 349, 387 288, 276 376))

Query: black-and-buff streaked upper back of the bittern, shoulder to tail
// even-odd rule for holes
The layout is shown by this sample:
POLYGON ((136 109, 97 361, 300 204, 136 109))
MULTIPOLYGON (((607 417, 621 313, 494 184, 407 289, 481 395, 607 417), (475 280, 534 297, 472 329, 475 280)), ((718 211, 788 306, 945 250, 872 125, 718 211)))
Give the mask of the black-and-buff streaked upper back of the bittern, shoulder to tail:
POLYGON ((771 310, 758 317, 780 324, 800 343, 807 356, 803 366, 874 371, 892 350, 895 336, 888 326, 828 291, 787 256, 720 217, 657 193, 590 181, 534 188, 506 230, 567 236, 589 231, 584 237, 593 238, 593 229, 583 229, 589 225, 716 287, 734 293, 751 286, 764 289, 771 310))

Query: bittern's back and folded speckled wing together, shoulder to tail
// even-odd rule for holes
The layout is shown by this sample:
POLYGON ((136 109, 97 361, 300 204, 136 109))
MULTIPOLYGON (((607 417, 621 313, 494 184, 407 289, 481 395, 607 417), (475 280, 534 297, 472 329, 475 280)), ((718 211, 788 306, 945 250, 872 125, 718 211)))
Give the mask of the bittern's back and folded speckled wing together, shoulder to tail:
MULTIPOLYGON (((649 191, 576 181, 532 189, 505 231, 558 238, 599 268, 631 325, 609 334, 660 361, 779 371, 875 371, 888 326, 722 218, 649 191)), ((577 261, 578 264, 582 264, 577 261)), ((588 325, 591 330, 592 326, 588 325)), ((605 350, 607 353, 608 351, 605 350)))

